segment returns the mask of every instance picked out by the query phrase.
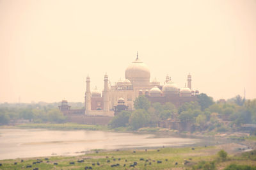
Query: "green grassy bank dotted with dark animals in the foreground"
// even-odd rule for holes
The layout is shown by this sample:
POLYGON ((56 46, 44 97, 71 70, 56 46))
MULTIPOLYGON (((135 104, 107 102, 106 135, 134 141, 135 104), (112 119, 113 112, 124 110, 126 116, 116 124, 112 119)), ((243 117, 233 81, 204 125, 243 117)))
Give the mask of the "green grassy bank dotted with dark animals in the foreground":
POLYGON ((92 151, 92 153, 77 157, 23 158, 23 162, 20 158, 0 160, 2 164, 0 169, 26 169, 27 166, 31 166, 28 169, 36 167, 38 169, 84 169, 85 167, 92 167, 92 169, 193 169, 194 167, 198 169, 209 162, 213 162, 216 169, 223 169, 230 164, 255 166, 256 168, 256 151, 228 155, 225 161, 218 160, 218 151, 220 151, 219 146, 196 147, 194 150, 192 148, 159 148, 147 151, 92 151), (83 160, 83 162, 77 162, 77 160, 83 160), (157 163, 157 161, 161 162, 157 163), (33 164, 33 162, 38 163, 33 164), (134 162, 137 163, 136 166, 131 167, 134 162))

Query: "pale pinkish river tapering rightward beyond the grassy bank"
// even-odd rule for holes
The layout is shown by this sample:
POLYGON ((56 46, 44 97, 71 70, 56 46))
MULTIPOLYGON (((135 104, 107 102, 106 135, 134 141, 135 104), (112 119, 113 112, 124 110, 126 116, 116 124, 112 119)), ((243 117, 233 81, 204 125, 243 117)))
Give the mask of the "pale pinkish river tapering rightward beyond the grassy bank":
POLYGON ((81 155, 90 150, 186 146, 200 139, 90 130, 0 129, 0 160, 81 155))

